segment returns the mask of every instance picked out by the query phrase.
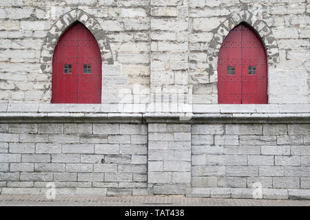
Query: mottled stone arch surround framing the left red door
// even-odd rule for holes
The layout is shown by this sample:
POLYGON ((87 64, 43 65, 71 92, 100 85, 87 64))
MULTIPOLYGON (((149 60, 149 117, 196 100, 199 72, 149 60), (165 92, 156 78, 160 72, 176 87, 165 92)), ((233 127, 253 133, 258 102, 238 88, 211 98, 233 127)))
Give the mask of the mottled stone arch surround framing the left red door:
POLYGON ((43 74, 49 74, 49 78, 52 76, 52 56, 54 47, 56 47, 61 34, 76 21, 83 23, 94 35, 99 45, 102 63, 108 65, 114 64, 109 39, 107 39, 101 25, 91 17, 90 14, 87 14, 83 10, 75 9, 63 14, 58 21, 52 25, 41 47, 41 71, 43 74))

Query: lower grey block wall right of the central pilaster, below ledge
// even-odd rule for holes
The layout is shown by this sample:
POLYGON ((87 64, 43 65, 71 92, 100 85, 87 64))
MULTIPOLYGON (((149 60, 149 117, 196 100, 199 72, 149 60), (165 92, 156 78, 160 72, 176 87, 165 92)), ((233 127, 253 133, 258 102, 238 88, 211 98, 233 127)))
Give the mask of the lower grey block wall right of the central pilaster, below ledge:
POLYGON ((192 195, 253 198, 260 186, 265 199, 309 199, 309 131, 309 124, 193 125, 192 195))

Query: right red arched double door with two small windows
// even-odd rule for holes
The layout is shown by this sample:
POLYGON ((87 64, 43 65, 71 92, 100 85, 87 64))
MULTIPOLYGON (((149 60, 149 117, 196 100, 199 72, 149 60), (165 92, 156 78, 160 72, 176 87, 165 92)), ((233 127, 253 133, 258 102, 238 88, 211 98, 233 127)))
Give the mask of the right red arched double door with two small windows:
POLYGON ((220 47, 218 103, 268 103, 265 47, 247 25, 231 30, 220 47))

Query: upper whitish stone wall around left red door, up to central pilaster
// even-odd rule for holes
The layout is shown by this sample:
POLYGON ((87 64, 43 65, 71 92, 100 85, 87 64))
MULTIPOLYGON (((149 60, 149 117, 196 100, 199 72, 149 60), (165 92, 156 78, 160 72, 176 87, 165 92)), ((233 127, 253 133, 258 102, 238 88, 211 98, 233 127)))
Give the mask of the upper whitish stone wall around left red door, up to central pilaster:
POLYGON ((8 0, 0 7, 0 100, 50 103, 54 46, 80 21, 101 48, 102 102, 132 103, 137 92, 148 102, 149 1, 8 0))

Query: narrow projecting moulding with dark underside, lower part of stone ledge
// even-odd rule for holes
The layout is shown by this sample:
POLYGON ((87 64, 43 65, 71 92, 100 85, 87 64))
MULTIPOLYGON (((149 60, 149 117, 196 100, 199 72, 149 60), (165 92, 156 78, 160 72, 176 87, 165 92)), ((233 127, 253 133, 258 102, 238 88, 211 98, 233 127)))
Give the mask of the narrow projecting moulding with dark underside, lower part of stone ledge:
POLYGON ((1 123, 310 124, 310 113, 0 113, 1 123))

